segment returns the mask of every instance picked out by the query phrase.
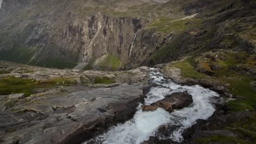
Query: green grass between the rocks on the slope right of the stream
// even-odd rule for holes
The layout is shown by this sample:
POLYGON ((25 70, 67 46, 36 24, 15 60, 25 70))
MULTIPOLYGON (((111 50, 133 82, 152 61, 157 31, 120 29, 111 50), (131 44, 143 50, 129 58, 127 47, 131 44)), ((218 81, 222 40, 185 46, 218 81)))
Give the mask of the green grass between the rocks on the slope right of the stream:
POLYGON ((245 99, 237 99, 229 101, 228 106, 232 111, 243 111, 256 109, 256 91, 249 83, 256 81, 256 76, 246 76, 238 74, 239 71, 230 70, 229 67, 234 65, 241 65, 241 67, 255 68, 255 55, 249 55, 245 52, 217 52, 212 55, 218 55, 216 61, 211 58, 202 56, 190 56, 185 61, 177 61, 171 67, 177 67, 182 70, 183 77, 191 77, 193 79, 210 78, 211 81, 219 81, 221 83, 229 83, 229 92, 234 96, 242 96, 245 99), (197 57, 195 59, 195 57, 197 57), (205 65, 205 69, 213 72, 212 76, 199 73, 195 69, 196 65, 200 63, 205 65), (212 64, 222 65, 222 69, 214 71, 210 68, 212 64))

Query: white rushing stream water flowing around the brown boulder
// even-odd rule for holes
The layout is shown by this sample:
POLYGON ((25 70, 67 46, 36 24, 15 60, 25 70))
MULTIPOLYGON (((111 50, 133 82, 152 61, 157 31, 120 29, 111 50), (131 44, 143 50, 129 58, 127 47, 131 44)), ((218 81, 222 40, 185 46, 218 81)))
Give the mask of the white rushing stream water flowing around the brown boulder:
POLYGON ((193 97, 193 104, 182 110, 175 110, 172 113, 158 108, 152 112, 143 112, 141 105, 138 106, 135 116, 124 124, 118 124, 110 128, 107 133, 97 136, 95 139, 84 142, 104 143, 104 144, 139 144, 149 139, 149 136, 156 135, 158 127, 162 124, 176 125, 177 129, 170 134, 170 137, 161 137, 161 139, 172 139, 173 141, 183 141, 182 133, 193 125, 197 119, 207 119, 215 111, 211 103, 212 97, 218 97, 216 92, 201 86, 181 86, 171 81, 165 80, 164 76, 157 70, 151 69, 152 82, 156 87, 152 87, 145 99, 145 105, 150 105, 158 100, 164 99, 165 95, 174 92, 188 91, 193 97))

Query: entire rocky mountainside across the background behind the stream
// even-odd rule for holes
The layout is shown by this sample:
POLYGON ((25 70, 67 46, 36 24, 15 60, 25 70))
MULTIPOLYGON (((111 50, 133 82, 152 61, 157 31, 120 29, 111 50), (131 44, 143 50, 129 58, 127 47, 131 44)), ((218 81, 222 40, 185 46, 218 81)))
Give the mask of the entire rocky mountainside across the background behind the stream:
POLYGON ((85 69, 116 70, 170 62, 192 51, 252 53, 254 6, 228 0, 3 1, 0 57, 44 67, 84 63, 85 69))

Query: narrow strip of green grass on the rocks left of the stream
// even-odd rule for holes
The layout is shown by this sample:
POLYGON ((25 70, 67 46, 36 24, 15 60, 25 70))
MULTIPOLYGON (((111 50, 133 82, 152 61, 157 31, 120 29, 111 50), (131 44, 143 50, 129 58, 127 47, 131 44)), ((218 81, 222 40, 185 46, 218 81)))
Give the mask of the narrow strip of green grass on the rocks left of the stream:
POLYGON ((38 82, 34 79, 21 79, 18 77, 10 76, 0 79, 0 95, 8 95, 11 93, 25 93, 25 97, 29 97, 32 89, 54 87, 54 86, 69 86, 75 85, 77 82, 72 78, 57 78, 44 82, 38 82))

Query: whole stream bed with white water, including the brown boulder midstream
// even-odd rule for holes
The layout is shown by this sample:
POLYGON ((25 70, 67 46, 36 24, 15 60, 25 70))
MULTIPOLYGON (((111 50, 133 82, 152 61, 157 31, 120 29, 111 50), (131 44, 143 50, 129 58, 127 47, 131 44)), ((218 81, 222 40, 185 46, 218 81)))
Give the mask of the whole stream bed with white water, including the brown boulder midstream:
POLYGON ((86 144, 152 143, 147 141, 150 136, 155 136, 156 140, 183 142, 185 129, 197 119, 207 119, 215 111, 211 99, 219 95, 210 89, 178 85, 166 80, 158 69, 152 69, 150 77, 155 86, 149 89, 144 105, 137 108, 135 116, 86 141, 86 144))

